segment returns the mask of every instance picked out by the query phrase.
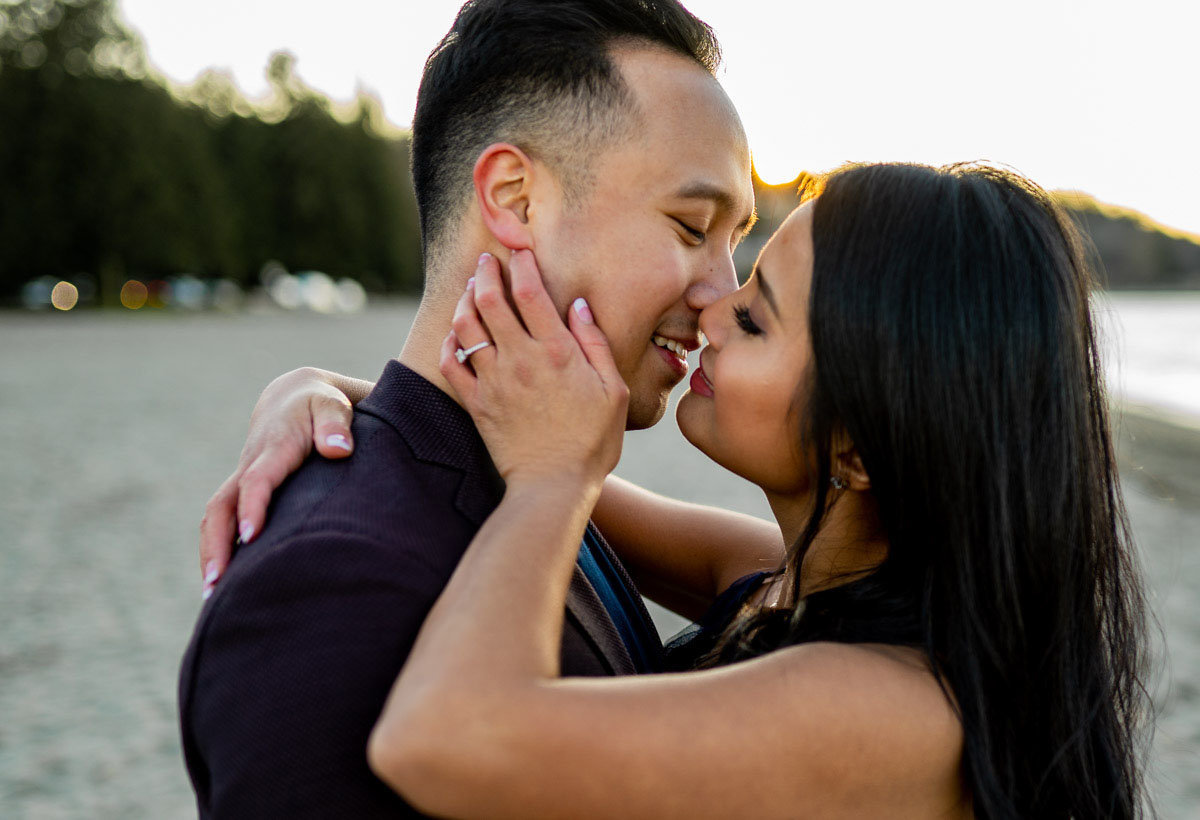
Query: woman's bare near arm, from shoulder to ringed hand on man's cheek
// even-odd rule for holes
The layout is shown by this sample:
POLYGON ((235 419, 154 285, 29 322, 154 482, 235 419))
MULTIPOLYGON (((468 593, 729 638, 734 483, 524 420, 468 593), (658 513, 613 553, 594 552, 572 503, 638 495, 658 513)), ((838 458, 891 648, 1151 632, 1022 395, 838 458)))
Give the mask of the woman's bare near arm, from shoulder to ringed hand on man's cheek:
MULTIPOLYGON (((522 264, 515 289, 529 276, 522 264)), ((595 431, 619 441, 618 411, 594 384, 580 388, 578 355, 556 365, 523 352, 526 376, 541 377, 522 384, 503 363, 516 331, 492 318, 509 309, 485 297, 499 276, 481 271, 479 282, 496 345, 473 373, 446 360, 451 341, 443 372, 466 394, 508 487, 371 735, 376 773, 438 816, 950 814, 960 798, 953 710, 919 662, 889 651, 814 645, 690 675, 558 677, 563 605, 605 462, 595 431)), ((541 310, 553 310, 548 298, 541 310)), ((571 322, 577 336, 598 333, 571 322)), ((456 321, 460 337, 467 324, 456 321)))

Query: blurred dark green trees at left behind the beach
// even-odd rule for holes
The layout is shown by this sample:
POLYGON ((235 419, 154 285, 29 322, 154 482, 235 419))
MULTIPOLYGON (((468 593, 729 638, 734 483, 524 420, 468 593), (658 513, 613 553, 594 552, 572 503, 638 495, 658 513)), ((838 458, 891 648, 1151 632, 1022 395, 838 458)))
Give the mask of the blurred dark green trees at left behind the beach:
POLYGON ((0 0, 0 299, 34 276, 173 273, 251 285, 270 259, 421 286, 408 143, 378 106, 338 119, 289 55, 254 109, 209 74, 173 95, 148 77, 113 0, 0 0))

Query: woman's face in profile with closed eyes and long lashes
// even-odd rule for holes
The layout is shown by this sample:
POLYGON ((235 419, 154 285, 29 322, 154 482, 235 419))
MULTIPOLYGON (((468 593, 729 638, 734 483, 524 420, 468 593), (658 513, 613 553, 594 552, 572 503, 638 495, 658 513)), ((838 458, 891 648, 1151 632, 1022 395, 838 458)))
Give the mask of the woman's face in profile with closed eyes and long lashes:
POLYGON ((798 447, 812 283, 812 202, 767 243, 755 273, 700 315, 708 347, 679 400, 684 437, 719 465, 768 493, 809 491, 811 463, 798 447))

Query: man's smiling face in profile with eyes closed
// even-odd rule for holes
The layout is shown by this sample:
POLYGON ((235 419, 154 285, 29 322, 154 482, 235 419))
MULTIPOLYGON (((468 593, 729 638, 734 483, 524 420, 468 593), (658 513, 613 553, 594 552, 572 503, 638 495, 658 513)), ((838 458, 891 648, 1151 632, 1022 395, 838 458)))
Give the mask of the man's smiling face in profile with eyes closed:
POLYGON ((628 429, 655 424, 700 346, 700 311, 737 288, 733 249, 754 211, 750 151, 720 85, 658 49, 614 59, 641 110, 595 157, 584 200, 544 223, 536 253, 556 301, 584 297, 630 389, 628 429), (671 340, 670 342, 665 340, 671 340))

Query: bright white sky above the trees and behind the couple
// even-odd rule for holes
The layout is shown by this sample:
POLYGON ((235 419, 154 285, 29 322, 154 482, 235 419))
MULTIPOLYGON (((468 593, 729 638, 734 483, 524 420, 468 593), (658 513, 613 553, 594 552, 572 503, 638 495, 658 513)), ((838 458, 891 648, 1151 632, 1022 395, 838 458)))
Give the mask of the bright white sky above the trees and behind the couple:
MULTIPOLYGON (((270 54, 335 100, 412 121, 461 0, 120 0, 176 83, 214 67, 251 97, 270 54)), ((1200 234, 1195 0, 684 0, 769 182, 844 162, 986 160, 1200 234)))

